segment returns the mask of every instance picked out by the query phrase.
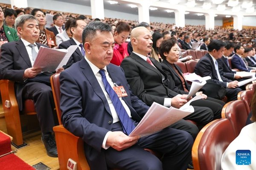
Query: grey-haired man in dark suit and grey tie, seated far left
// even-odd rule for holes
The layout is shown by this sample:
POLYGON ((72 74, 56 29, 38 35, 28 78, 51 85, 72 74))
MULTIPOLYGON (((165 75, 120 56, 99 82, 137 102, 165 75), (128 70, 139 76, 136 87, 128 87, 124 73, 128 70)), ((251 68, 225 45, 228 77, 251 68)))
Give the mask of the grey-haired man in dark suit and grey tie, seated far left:
POLYGON ((15 26, 21 39, 9 42, 1 47, 0 79, 15 81, 16 98, 20 111, 23 101, 33 99, 35 111, 42 131, 42 141, 48 156, 57 157, 57 149, 52 127, 55 126, 53 110, 55 108, 52 89, 49 85, 50 76, 41 73, 41 68, 32 67, 40 46, 38 21, 32 15, 17 17, 15 26))

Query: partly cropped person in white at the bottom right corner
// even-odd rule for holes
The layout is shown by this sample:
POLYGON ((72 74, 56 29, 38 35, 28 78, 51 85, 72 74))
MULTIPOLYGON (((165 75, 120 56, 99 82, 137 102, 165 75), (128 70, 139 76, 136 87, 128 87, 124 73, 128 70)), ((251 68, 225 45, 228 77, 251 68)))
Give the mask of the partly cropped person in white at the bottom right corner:
MULTIPOLYGON (((251 121, 253 123, 245 126, 239 136, 229 144, 221 157, 221 170, 255 170, 256 169, 256 91, 251 102, 251 121), (237 150, 250 150, 249 155, 243 158, 236 152, 237 150), (245 158, 246 157, 246 158, 245 158), (250 159, 249 159, 250 158, 250 159), (248 162, 250 160, 250 162, 248 162)), ((241 113, 246 114, 246 113, 241 113)))

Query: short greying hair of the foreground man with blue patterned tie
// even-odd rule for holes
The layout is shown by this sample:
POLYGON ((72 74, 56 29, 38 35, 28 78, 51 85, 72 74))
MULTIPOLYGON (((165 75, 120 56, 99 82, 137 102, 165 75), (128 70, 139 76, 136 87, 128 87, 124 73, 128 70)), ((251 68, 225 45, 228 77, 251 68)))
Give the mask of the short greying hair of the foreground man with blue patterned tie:
POLYGON ((82 34, 83 45, 85 42, 93 40, 93 38, 96 36, 96 31, 111 32, 111 25, 102 23, 100 21, 90 22, 83 30, 83 34, 82 34))

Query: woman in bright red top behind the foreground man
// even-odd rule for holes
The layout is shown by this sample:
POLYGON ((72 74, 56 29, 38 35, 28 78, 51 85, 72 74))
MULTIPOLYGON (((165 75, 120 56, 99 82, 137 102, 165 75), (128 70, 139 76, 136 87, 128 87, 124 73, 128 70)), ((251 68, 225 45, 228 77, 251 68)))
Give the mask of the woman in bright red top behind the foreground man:
POLYGON ((130 34, 130 26, 127 23, 119 22, 114 31, 115 46, 113 48, 113 58, 111 63, 120 65, 122 60, 128 56, 127 43, 125 42, 130 34))

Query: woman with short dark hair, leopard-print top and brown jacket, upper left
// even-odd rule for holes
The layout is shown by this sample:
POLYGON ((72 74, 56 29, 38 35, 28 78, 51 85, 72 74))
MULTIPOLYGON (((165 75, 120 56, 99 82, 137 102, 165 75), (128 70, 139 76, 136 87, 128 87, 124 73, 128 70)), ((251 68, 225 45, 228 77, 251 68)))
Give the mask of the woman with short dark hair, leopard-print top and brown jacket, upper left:
POLYGON ((39 38, 36 42, 47 45, 49 48, 57 46, 54 33, 44 28, 46 24, 44 12, 41 9, 34 8, 31 15, 36 17, 39 23, 39 38))

